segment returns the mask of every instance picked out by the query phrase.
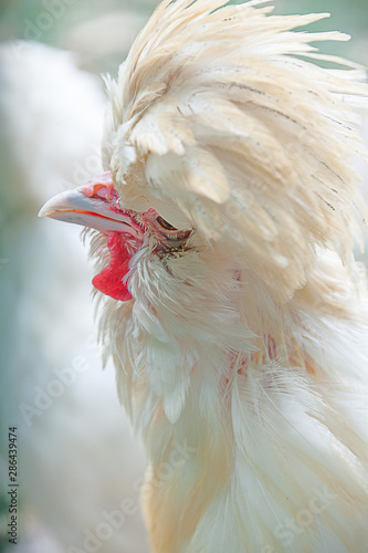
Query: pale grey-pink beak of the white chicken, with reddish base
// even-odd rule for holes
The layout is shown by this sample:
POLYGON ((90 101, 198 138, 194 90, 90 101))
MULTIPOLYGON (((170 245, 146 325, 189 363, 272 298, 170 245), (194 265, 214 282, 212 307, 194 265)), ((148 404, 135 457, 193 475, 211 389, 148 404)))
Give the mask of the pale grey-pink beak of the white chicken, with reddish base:
POLYGON ((134 212, 120 209, 112 182, 94 179, 85 187, 66 190, 51 198, 41 208, 39 217, 51 217, 65 222, 90 227, 105 234, 128 232, 141 237, 141 227, 134 212))

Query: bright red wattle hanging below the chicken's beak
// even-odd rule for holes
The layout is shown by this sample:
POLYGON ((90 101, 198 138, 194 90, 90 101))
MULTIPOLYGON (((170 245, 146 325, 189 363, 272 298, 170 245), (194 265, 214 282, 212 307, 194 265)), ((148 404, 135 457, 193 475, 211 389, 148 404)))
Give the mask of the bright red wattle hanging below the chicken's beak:
POLYGON ((132 300, 132 294, 122 281, 129 271, 132 253, 129 253, 125 237, 120 232, 111 232, 107 246, 111 253, 109 264, 93 279, 92 283, 103 294, 126 302, 132 300))

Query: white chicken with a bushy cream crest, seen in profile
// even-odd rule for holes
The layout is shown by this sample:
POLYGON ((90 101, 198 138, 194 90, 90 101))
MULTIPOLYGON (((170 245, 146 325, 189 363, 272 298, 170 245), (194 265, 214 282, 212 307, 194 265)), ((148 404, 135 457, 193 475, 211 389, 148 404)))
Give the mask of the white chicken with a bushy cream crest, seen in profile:
POLYGON ((97 230, 155 553, 364 553, 364 71, 294 32, 324 14, 225 3, 157 8, 107 80, 106 173, 41 215, 97 230))

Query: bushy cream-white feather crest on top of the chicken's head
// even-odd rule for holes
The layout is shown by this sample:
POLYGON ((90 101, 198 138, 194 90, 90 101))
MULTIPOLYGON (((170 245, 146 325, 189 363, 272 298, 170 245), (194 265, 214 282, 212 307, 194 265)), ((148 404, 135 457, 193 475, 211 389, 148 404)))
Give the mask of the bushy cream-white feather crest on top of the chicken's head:
POLYGON ((316 247, 346 261, 360 234, 353 159, 367 154, 351 105, 368 87, 362 67, 311 45, 346 34, 295 32, 328 14, 265 3, 164 1, 109 82, 106 158, 123 204, 137 190, 175 204, 287 300, 316 247), (122 145, 135 155, 123 159, 122 145))

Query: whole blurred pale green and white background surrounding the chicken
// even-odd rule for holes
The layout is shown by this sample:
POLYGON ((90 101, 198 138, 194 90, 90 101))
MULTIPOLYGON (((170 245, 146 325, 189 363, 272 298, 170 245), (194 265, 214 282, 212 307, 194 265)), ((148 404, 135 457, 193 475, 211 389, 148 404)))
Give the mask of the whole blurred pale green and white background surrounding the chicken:
MULTIPOLYGON (((118 405, 114 368, 108 363, 102 372, 87 248, 77 227, 36 213, 52 195, 102 171, 101 74, 116 74, 156 3, 1 0, 0 551, 7 553, 149 551, 139 508, 145 459, 118 405), (15 546, 7 535, 9 427, 18 435, 15 546)), ((332 12, 314 28, 353 40, 322 50, 368 65, 367 0, 275 3, 278 13, 332 12)))

